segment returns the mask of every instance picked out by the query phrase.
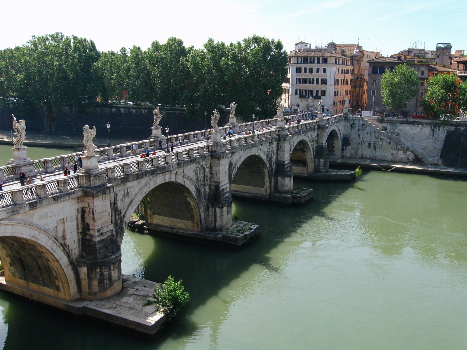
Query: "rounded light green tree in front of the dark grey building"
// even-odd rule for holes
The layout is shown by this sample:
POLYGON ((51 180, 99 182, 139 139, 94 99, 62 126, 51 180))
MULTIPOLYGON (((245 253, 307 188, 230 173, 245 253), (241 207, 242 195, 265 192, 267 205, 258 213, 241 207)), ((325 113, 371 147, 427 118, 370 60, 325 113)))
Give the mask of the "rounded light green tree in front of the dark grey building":
POLYGON ((381 97, 389 109, 399 115, 404 103, 417 96, 420 78, 407 63, 398 65, 396 70, 387 70, 381 77, 381 97))

